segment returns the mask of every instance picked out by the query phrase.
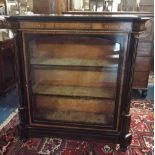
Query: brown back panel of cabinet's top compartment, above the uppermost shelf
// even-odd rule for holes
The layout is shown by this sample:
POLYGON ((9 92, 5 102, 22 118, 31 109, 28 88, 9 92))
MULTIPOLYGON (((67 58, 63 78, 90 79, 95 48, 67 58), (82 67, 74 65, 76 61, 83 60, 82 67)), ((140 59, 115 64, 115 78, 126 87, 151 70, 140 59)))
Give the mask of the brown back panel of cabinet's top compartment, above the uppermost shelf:
MULTIPOLYGON (((44 36, 42 36, 44 37, 44 36)), ((32 57, 102 59, 118 54, 120 45, 102 38, 51 36, 30 42, 32 57)))

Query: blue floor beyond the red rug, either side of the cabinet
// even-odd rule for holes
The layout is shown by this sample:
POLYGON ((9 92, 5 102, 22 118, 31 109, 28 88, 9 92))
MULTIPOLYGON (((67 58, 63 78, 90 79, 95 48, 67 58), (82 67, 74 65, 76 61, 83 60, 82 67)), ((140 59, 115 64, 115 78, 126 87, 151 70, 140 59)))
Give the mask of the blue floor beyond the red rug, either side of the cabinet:
MULTIPOLYGON (((134 90, 132 93, 133 99, 142 98, 141 92, 134 90)), ((148 85, 148 94, 146 99, 154 100, 154 85, 148 85)), ((9 91, 5 96, 0 97, 0 124, 2 124, 11 113, 18 108, 19 98, 17 88, 9 91)))

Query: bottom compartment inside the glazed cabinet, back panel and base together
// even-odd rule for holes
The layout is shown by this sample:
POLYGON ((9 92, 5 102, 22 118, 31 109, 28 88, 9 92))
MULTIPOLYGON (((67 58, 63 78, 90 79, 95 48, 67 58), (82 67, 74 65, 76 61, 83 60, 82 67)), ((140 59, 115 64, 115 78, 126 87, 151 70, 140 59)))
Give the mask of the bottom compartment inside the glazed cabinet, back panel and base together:
POLYGON ((56 96, 34 96, 34 119, 112 124, 114 101, 56 96))

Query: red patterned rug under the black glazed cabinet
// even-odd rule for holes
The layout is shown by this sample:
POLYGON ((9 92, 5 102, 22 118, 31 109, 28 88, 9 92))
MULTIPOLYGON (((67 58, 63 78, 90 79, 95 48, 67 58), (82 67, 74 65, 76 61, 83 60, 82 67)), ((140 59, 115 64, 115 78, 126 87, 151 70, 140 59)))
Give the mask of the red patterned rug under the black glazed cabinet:
POLYGON ((132 144, 126 153, 119 145, 60 138, 33 138, 25 143, 18 140, 18 116, 0 131, 0 155, 153 155, 153 101, 134 100, 131 104, 132 144))

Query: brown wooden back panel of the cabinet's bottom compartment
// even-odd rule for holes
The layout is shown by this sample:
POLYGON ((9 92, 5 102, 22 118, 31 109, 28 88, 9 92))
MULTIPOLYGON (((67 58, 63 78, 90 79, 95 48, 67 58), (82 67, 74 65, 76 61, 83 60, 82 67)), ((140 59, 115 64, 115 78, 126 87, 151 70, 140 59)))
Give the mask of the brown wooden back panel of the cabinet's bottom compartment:
POLYGON ((60 109, 60 111, 81 111, 108 114, 113 112, 115 105, 114 100, 78 99, 39 95, 36 95, 35 100, 37 108, 42 110, 60 109))

